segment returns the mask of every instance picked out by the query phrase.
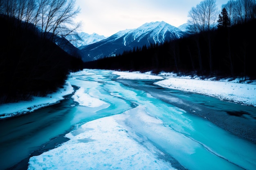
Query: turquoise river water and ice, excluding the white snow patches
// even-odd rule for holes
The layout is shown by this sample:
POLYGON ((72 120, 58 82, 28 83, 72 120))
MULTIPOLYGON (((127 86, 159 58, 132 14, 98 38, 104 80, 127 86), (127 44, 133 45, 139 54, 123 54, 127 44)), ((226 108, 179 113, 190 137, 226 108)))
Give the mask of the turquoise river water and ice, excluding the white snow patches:
POLYGON ((126 120, 127 128, 141 139, 146 137, 172 167, 256 168, 256 108, 162 88, 153 84, 157 80, 116 79, 111 73, 88 70, 68 78, 76 91, 83 88, 84 94, 104 102, 99 106, 81 106, 72 94, 58 104, 0 120, 0 170, 24 169, 30 157, 68 141, 64 135, 82 124, 125 112, 133 115, 132 110, 142 109, 140 106, 162 125, 146 128, 144 120, 137 118, 126 120))

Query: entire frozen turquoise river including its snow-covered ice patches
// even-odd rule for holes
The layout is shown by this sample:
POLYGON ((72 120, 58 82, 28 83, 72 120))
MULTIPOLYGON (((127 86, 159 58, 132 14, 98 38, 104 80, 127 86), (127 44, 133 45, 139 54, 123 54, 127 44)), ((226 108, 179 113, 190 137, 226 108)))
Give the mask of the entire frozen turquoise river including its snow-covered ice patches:
POLYGON ((2 120, 0 169, 19 169, 25 158, 29 170, 256 169, 256 144, 243 139, 255 135, 247 129, 255 129, 254 107, 112 72, 74 73, 68 81, 76 92, 60 104, 2 120), (245 117, 234 116, 241 111, 245 117), (64 143, 44 150, 49 141, 64 143))

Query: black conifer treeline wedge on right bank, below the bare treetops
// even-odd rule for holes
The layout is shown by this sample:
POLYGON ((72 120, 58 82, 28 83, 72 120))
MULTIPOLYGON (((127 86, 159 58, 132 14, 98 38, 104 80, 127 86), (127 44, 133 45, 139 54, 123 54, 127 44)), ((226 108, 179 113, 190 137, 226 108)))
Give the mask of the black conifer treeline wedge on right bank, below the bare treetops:
POLYGON ((255 77, 256 20, 86 62, 86 68, 255 77))

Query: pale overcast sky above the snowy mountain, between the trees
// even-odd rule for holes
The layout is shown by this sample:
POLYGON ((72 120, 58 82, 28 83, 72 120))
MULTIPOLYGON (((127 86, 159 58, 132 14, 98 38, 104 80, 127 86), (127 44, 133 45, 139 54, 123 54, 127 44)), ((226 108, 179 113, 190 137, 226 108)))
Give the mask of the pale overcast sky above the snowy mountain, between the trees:
MULTIPOLYGON (((146 22, 164 21, 173 26, 187 22, 192 7, 202 0, 76 0, 82 32, 106 37, 146 22)), ((218 8, 228 0, 216 0, 218 8)))

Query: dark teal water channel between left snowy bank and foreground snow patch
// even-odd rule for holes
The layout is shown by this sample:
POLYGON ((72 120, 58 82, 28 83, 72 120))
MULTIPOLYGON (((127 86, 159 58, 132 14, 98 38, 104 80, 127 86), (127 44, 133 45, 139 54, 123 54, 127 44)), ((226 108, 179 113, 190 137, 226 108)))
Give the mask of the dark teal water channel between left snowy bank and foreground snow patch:
POLYGON ((58 104, 0 121, 0 169, 13 166, 49 139, 72 127, 75 102, 71 95, 58 104))

